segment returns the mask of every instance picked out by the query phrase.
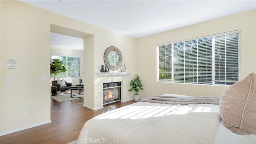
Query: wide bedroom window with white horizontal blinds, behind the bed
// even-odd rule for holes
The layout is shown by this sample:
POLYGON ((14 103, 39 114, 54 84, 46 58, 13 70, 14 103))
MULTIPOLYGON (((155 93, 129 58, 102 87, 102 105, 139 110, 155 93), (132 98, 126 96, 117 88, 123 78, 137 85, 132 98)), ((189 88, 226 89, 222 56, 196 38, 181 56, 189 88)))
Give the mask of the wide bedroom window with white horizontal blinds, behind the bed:
POLYGON ((157 46, 157 81, 232 85, 240 80, 240 31, 157 46))

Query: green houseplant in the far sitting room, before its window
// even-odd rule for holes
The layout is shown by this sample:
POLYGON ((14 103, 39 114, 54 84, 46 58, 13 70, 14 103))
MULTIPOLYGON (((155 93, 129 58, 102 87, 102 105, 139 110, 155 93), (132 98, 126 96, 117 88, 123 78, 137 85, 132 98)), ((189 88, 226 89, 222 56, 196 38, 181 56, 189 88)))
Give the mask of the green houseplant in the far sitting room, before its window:
POLYGON ((54 75, 54 81, 56 75, 60 75, 62 72, 65 72, 67 69, 62 65, 62 61, 60 59, 52 59, 52 63, 50 65, 51 75, 54 75))

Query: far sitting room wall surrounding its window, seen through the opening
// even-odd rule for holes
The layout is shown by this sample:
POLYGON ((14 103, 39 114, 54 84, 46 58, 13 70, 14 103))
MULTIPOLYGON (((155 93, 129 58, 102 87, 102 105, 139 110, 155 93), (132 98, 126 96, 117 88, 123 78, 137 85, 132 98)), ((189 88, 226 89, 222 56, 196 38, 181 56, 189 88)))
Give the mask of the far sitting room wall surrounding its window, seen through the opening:
MULTIPOLYGON (((51 54, 81 57, 81 59, 80 59, 80 77, 64 78, 69 83, 72 83, 73 85, 78 85, 79 84, 79 79, 84 77, 84 51, 75 50, 75 49, 60 48, 60 47, 51 47, 51 54)), ((56 77, 58 77, 58 76, 56 76, 56 77)), ((51 81, 53 81, 53 80, 54 79, 52 79, 51 81)))

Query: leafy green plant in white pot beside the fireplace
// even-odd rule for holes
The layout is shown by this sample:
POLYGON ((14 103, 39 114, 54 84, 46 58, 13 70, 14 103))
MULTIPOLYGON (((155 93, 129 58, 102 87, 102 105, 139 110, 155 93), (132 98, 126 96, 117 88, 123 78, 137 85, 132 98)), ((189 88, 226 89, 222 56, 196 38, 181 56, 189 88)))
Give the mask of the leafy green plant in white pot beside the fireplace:
POLYGON ((138 94, 139 90, 143 89, 143 85, 141 83, 140 77, 138 75, 134 75, 134 80, 131 80, 130 86, 132 86, 131 89, 128 91, 134 90, 134 101, 139 101, 140 100, 140 95, 138 94), (135 77, 136 76, 136 77, 135 77))

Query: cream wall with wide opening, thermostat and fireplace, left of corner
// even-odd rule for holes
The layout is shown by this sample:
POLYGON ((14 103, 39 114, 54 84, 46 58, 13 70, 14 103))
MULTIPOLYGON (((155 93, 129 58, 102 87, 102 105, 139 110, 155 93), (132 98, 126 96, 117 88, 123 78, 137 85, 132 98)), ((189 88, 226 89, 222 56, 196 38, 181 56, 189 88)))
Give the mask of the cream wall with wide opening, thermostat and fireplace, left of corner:
POLYGON ((124 101, 132 98, 132 93, 126 90, 129 88, 127 83, 130 83, 136 72, 135 60, 130 59, 136 52, 135 39, 20 1, 0 3, 1 135, 51 122, 49 63, 52 26, 90 34, 89 37, 75 36, 87 42, 84 44, 83 60, 86 83, 84 106, 92 109, 102 107, 103 102, 100 105, 100 101, 96 101, 102 99, 102 95, 100 98, 95 91, 100 78, 95 73, 100 72, 100 65, 104 64, 105 49, 112 45, 120 49, 124 62, 130 65, 132 74, 122 79, 122 82, 124 101), (6 69, 6 58, 16 58, 18 68, 6 69), (6 84, 6 77, 12 79, 11 84, 6 84), (40 77, 47 77, 47 81, 40 82, 40 77), (29 114, 30 108, 34 109, 34 114, 29 114))

